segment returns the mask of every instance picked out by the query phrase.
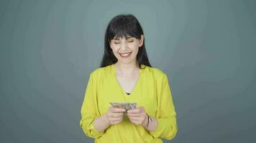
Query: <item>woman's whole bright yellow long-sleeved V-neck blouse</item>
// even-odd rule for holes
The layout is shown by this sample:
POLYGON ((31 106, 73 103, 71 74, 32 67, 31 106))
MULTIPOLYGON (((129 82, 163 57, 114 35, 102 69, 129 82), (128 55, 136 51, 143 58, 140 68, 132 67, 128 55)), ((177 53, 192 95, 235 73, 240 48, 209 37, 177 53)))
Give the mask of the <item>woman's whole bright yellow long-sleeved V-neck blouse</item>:
POLYGON ((86 136, 95 138, 97 143, 163 142, 161 138, 175 137, 178 127, 168 77, 160 69, 145 65, 142 67, 145 69, 140 69, 140 77, 129 95, 116 79, 114 64, 96 69, 90 74, 80 121, 86 136), (132 124, 124 114, 121 123, 111 125, 104 132, 97 131, 93 128, 93 121, 108 112, 111 107, 109 102, 136 102, 137 107, 145 107, 147 114, 157 119, 157 128, 149 132, 142 126, 132 124))

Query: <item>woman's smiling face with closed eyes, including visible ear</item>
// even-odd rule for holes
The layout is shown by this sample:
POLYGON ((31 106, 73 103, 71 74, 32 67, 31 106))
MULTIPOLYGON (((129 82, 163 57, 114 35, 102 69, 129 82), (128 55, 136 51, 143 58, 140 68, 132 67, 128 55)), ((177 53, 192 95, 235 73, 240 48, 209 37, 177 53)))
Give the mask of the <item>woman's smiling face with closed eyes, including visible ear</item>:
POLYGON ((122 39, 112 39, 110 41, 110 47, 114 53, 114 56, 118 59, 118 62, 124 64, 136 63, 137 53, 140 46, 143 45, 144 36, 141 35, 140 39, 136 39, 132 36, 122 37, 122 39))

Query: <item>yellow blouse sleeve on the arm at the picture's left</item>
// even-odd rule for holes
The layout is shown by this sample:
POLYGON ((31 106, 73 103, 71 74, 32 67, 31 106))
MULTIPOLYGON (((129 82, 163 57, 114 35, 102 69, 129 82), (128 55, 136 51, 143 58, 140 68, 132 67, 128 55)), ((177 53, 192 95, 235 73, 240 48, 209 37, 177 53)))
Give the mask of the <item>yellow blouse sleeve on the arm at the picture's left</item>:
POLYGON ((98 138, 104 134, 99 132, 93 127, 94 120, 100 116, 97 102, 97 90, 96 90, 96 76, 90 74, 88 84, 86 87, 85 97, 83 99, 83 104, 81 107, 81 120, 80 126, 83 129, 83 132, 88 137, 98 138))

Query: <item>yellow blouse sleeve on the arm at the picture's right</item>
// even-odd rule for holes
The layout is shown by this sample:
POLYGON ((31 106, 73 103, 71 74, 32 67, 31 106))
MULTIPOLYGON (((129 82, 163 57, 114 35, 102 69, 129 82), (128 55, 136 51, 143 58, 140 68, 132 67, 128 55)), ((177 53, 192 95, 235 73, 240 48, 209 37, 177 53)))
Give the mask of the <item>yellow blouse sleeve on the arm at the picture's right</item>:
POLYGON ((170 92, 168 77, 161 77, 161 86, 157 87, 157 128, 150 132, 153 137, 173 139, 178 131, 176 112, 170 92))

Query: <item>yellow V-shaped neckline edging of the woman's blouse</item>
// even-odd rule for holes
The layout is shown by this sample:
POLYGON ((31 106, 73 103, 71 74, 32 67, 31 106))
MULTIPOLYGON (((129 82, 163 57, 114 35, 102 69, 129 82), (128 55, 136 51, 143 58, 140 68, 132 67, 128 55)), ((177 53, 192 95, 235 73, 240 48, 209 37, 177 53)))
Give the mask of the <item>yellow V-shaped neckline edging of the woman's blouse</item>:
POLYGON ((124 89, 122 88, 121 84, 119 83, 117 77, 116 77, 116 68, 114 66, 114 64, 112 64, 112 70, 113 70, 113 76, 115 79, 116 84, 118 84, 119 89, 121 89, 122 94, 126 95, 126 97, 131 97, 134 94, 134 91, 136 90, 136 88, 138 87, 138 84, 140 82, 141 76, 142 76, 142 69, 140 69, 139 71, 139 78, 137 79, 136 84, 134 84, 134 87, 132 89, 132 92, 129 92, 129 94, 127 94, 127 92, 124 91, 124 89))

